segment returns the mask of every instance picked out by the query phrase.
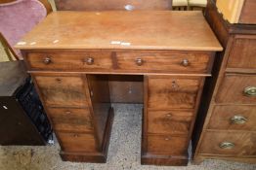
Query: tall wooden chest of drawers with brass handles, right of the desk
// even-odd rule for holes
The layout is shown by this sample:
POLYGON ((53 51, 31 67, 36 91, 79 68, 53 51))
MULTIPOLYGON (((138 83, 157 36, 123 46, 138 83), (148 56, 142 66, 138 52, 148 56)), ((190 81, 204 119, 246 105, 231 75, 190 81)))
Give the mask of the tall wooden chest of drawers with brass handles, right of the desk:
POLYGON ((230 24, 212 0, 206 18, 225 51, 218 53, 213 77, 206 80, 193 132, 194 161, 256 163, 256 25, 230 24))

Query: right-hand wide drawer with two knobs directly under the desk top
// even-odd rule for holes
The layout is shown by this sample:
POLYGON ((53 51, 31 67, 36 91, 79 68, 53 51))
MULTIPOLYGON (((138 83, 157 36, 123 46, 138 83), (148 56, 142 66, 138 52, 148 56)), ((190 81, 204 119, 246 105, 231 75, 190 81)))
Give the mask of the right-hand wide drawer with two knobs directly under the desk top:
POLYGON ((119 69, 140 72, 206 73, 209 60, 209 54, 199 52, 117 52, 119 69))

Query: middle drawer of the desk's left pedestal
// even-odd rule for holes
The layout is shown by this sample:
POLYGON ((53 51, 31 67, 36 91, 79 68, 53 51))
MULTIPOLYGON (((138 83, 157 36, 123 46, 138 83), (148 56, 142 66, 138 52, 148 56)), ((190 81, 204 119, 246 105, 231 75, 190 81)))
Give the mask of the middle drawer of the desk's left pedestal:
POLYGON ((55 130, 78 132, 93 130, 88 109, 48 108, 47 111, 55 130))

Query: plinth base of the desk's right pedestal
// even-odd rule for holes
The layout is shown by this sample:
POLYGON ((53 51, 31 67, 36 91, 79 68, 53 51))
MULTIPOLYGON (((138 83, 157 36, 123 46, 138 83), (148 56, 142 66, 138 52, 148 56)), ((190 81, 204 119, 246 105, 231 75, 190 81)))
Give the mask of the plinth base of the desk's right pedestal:
POLYGON ((188 156, 144 154, 141 158, 142 165, 187 166, 188 162, 188 156))

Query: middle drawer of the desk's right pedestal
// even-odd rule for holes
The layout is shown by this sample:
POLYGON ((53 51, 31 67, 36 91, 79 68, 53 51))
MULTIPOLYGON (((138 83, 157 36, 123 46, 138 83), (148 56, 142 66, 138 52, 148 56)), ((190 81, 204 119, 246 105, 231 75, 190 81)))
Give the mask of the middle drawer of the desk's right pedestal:
POLYGON ((148 132, 189 135, 192 123, 189 111, 148 111, 148 132))

